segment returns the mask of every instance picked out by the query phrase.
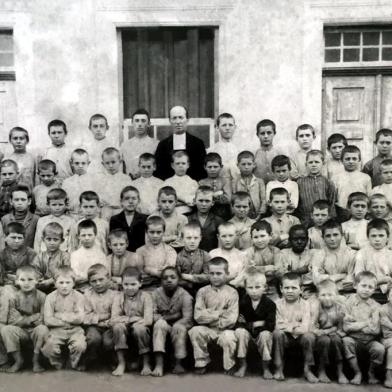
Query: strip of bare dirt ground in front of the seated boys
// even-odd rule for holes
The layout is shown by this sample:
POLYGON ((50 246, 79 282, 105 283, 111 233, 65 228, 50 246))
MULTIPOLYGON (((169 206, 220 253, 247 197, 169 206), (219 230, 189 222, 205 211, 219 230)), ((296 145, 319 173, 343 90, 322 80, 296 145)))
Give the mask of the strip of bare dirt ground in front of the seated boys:
MULTIPOLYGON (((235 379, 222 374, 195 376, 166 375, 162 378, 125 374, 115 378, 109 372, 79 373, 48 371, 33 374, 24 371, 17 375, 0 374, 0 392, 341 392, 337 384, 310 385, 302 379, 285 382, 264 381, 257 376, 235 379)), ((345 392, 388 391, 378 386, 345 386, 345 392)))

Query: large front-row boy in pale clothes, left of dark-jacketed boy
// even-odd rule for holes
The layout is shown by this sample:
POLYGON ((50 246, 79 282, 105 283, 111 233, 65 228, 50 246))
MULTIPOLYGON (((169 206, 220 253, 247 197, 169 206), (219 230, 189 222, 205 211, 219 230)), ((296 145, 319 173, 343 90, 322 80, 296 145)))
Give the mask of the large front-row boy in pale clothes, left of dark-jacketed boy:
POLYGON ((223 349, 223 368, 231 373, 237 346, 233 329, 238 319, 238 293, 226 284, 229 266, 224 258, 215 257, 208 265, 210 284, 197 292, 194 320, 198 325, 189 331, 195 372, 206 372, 210 362, 208 344, 216 342, 223 349))

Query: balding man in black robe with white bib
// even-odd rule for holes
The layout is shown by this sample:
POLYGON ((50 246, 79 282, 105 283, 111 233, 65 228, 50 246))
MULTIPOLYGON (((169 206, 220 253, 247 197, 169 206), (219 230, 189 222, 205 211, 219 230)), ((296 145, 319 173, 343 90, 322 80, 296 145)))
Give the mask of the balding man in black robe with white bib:
POLYGON ((198 137, 187 132, 188 111, 184 106, 174 106, 169 111, 169 121, 173 134, 161 140, 155 151, 157 169, 155 176, 166 180, 174 175, 171 167, 173 151, 185 150, 189 155, 190 167, 188 175, 194 180, 206 177, 204 171, 204 157, 206 149, 198 137))

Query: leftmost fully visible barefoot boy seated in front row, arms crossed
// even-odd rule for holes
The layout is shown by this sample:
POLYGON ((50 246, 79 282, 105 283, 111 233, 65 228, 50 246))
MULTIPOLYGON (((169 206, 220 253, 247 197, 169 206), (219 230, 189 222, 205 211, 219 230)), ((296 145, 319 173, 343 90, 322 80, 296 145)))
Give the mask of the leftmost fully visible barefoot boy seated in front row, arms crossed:
POLYGON ((14 363, 4 370, 15 373, 21 370, 24 358, 22 344, 33 342, 33 372, 44 371, 39 357, 45 339, 49 334, 43 324, 45 294, 37 290, 38 273, 32 266, 26 265, 16 271, 16 283, 19 289, 9 302, 8 325, 1 328, 1 338, 8 355, 14 363))

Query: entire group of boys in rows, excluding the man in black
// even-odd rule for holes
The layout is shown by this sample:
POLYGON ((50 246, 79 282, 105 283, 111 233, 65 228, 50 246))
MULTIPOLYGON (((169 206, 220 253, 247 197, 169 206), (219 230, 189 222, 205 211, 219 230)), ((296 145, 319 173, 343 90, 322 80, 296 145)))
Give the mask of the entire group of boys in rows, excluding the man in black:
POLYGON ((392 130, 377 132, 378 155, 361 171, 360 150, 341 134, 325 160, 309 124, 284 154, 262 120, 260 148, 239 151, 224 113, 207 177, 189 177, 178 150, 163 181, 149 113, 132 119, 135 137, 118 147, 106 118, 92 116, 91 137, 72 150, 53 120, 39 156, 25 129, 11 129, 0 164, 2 370, 21 370, 32 345, 34 372, 44 357, 89 369, 105 352, 115 376, 138 359, 142 375, 162 376, 171 344, 181 374, 190 342, 203 374, 216 343, 228 374, 245 375, 253 345, 275 380, 300 348, 312 383, 331 382, 332 370, 361 384, 367 352, 367 381, 385 366, 392 387, 392 130))

